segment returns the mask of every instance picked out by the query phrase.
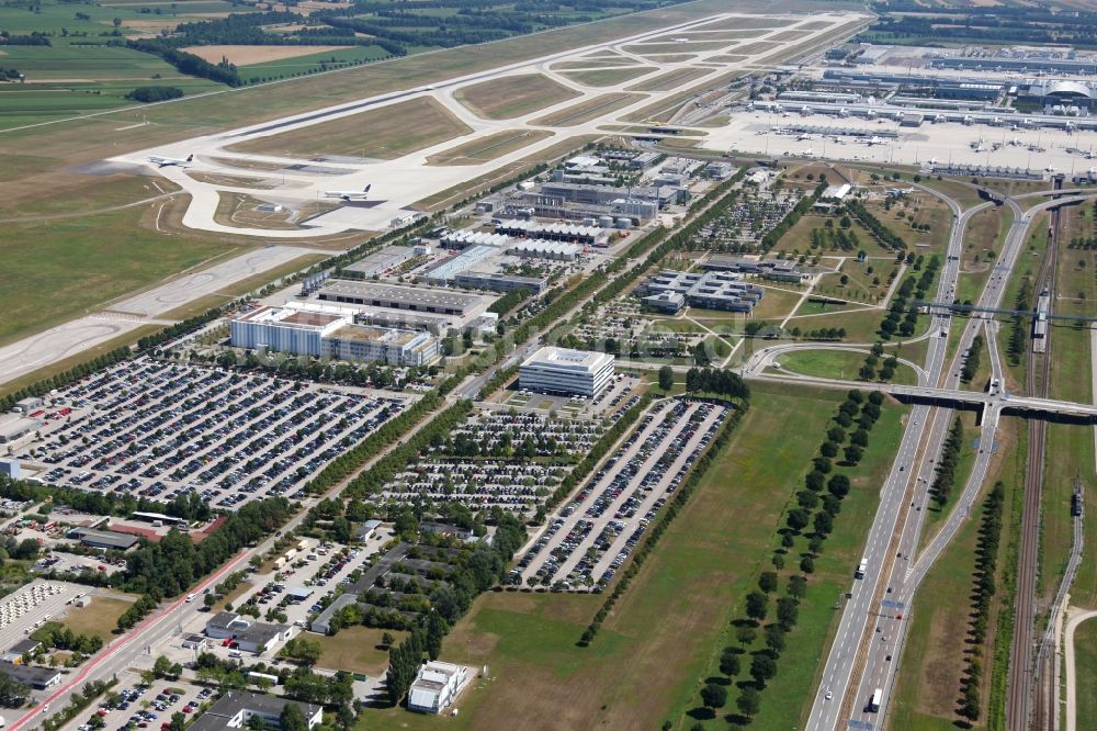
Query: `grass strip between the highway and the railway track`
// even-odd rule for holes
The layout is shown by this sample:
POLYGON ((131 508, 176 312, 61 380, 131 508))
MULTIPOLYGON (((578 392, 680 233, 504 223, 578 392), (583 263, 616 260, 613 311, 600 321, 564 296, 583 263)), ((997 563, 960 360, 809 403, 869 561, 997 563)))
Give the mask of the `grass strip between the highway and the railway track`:
MULTIPOLYGON (((984 481, 983 491, 976 498, 971 518, 961 527, 951 544, 942 552, 918 589, 907 620, 911 622, 902 655, 897 683, 891 707, 891 723, 896 729, 927 729, 945 731, 958 728, 957 708, 961 697, 961 679, 970 652, 968 632, 970 629, 971 604, 969 597, 973 586, 974 551, 979 537, 981 507, 987 492, 997 481, 1006 487, 1006 503, 1003 514, 1003 537, 998 555, 998 582, 1006 571, 1011 531, 1020 520, 1025 484, 1025 459, 1028 428, 1024 420, 1005 418, 1002 420, 1002 449, 992 462, 984 481)), ((959 472, 966 480, 966 472, 959 472)), ((962 490, 961 486, 957 491, 962 490)), ((953 503, 946 506, 951 510, 953 503)), ((927 526, 927 533, 936 532, 927 526)), ((1013 604, 1011 596, 1003 592, 992 600, 992 614, 987 622, 987 640, 983 651, 983 687, 981 691, 982 720, 971 727, 986 728, 988 683, 994 643, 1008 643, 1009 637, 995 637, 997 615, 1013 604)))

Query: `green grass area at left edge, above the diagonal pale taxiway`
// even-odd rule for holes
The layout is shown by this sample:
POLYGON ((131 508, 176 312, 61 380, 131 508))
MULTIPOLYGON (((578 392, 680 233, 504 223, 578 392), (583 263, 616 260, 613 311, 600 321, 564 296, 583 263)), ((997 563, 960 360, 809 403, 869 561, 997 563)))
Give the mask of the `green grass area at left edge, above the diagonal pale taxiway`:
POLYGON ((5 225, 0 238, 0 342, 87 314, 240 244, 144 228, 147 209, 5 225))

